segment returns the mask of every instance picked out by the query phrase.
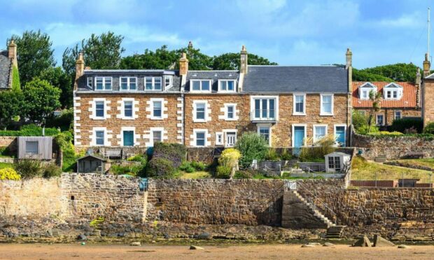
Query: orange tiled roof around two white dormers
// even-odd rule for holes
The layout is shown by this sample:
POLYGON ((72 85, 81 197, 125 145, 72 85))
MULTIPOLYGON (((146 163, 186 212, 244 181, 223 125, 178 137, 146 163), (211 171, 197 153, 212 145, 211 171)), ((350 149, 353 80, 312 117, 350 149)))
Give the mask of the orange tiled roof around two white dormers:
MULTIPOLYGON (((372 101, 361 100, 358 96, 358 87, 366 82, 353 82, 353 107, 370 108, 372 101)), ((391 82, 370 82, 377 87, 377 92, 383 93, 383 88, 391 82)), ((412 82, 395 82, 402 87, 402 98, 400 100, 381 99, 381 108, 416 108, 416 85, 412 82)))

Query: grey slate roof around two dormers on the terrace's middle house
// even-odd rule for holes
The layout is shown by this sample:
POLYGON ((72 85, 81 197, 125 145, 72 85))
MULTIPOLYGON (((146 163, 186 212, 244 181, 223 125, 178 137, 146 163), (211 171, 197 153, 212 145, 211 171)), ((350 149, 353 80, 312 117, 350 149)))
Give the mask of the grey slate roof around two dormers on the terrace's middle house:
POLYGON ((186 92, 190 91, 190 80, 212 80, 212 93, 218 92, 218 80, 238 80, 239 71, 188 71, 186 92))

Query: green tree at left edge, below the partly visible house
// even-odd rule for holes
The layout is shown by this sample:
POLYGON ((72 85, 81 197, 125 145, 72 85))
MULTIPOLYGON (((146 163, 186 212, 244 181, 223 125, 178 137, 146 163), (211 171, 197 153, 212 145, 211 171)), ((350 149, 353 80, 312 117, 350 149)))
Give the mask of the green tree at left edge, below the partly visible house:
POLYGON ((6 129, 11 122, 25 115, 24 96, 20 91, 0 92, 0 126, 6 129))

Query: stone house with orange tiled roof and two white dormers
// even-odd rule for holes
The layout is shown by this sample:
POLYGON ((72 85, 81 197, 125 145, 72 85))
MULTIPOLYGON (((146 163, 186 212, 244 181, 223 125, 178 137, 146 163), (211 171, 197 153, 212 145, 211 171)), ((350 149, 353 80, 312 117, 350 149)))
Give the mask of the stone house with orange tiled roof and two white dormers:
POLYGON ((367 115, 372 108, 370 91, 381 92, 381 109, 374 114, 378 126, 390 126, 395 119, 421 117, 421 75, 412 82, 353 82, 353 108, 367 115))

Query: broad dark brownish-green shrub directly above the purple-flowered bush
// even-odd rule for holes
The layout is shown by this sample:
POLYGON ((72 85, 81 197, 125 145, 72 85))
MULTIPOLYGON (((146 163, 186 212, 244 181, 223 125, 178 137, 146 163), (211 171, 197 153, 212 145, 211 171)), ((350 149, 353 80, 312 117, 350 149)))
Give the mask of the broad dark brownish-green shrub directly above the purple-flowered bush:
POLYGON ((186 159, 187 149, 179 143, 155 143, 153 147, 153 158, 163 158, 172 161, 173 166, 178 168, 186 159))

